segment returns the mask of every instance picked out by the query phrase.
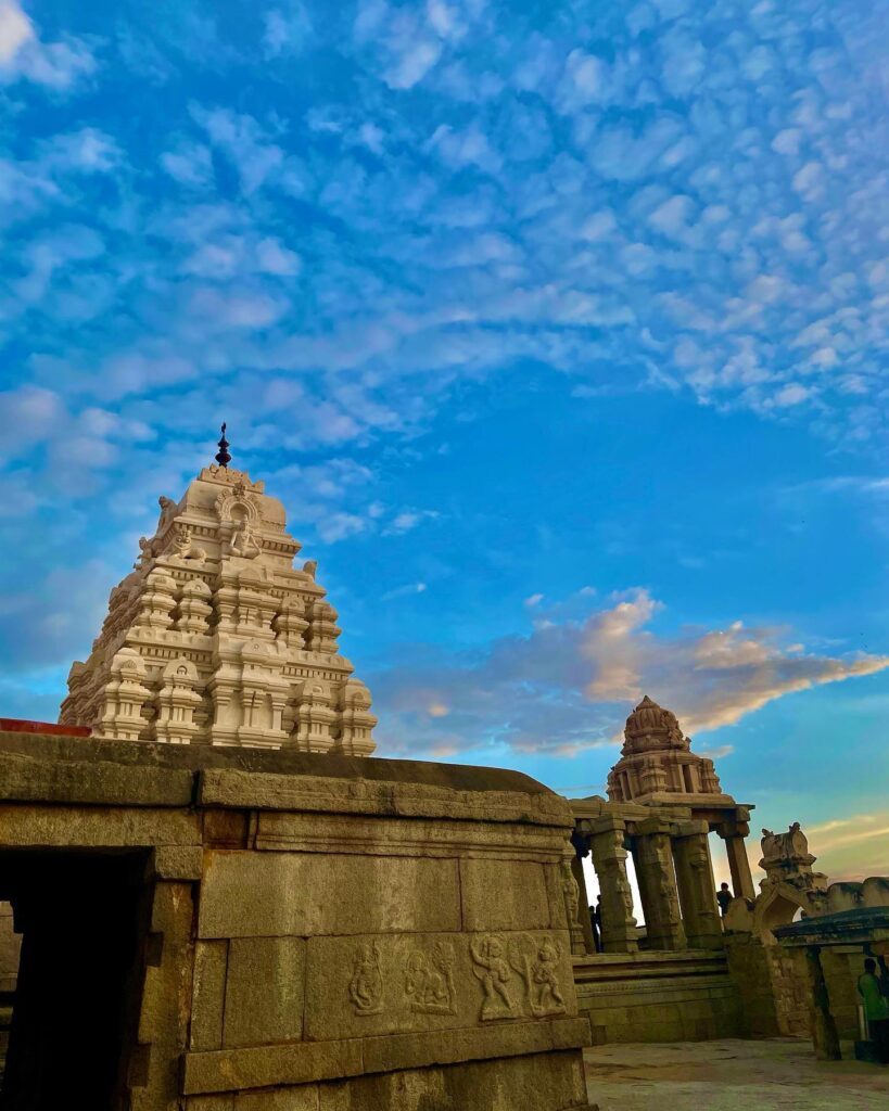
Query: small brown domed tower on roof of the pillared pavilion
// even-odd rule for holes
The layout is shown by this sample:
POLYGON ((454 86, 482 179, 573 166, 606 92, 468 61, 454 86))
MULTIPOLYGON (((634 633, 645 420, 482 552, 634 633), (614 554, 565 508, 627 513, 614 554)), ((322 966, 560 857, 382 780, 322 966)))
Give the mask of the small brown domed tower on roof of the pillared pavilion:
POLYGON ((713 761, 691 751, 676 714, 647 694, 627 719, 623 738, 608 774, 612 802, 733 801, 722 793, 713 761))

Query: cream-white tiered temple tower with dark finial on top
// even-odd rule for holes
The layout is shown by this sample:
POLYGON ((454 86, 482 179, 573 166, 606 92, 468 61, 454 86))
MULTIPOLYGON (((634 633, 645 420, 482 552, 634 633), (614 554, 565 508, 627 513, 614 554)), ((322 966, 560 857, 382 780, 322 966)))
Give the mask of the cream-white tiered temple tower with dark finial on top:
POLYGON ((206 467, 110 594, 86 663, 68 677, 59 721, 98 739, 369 755, 370 692, 337 651, 337 611, 293 568, 284 509, 229 470, 206 467))

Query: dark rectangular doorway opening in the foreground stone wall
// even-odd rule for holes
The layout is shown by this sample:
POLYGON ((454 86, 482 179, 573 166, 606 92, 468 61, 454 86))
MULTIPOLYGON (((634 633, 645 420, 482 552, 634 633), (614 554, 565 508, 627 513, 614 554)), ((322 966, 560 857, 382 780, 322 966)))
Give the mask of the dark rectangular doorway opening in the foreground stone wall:
POLYGON ((143 853, 0 852, 22 934, 0 1111, 117 1111, 134 1043, 143 853))

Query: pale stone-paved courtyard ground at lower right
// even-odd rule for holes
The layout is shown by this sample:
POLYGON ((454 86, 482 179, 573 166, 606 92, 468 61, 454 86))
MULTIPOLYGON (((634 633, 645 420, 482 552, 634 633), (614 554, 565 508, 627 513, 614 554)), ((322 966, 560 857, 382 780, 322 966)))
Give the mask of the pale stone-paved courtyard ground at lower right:
POLYGON ((889 1111, 889 1067, 816 1061, 795 1039, 585 1050, 600 1111, 889 1111))

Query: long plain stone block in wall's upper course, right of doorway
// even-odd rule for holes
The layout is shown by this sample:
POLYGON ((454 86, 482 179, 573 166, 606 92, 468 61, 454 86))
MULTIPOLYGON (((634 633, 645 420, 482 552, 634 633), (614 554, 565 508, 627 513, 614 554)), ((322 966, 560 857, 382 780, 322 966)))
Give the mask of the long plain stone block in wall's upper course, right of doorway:
POLYGON ((317 937, 460 929, 457 861, 209 852, 201 938, 317 937), (244 898, 244 892, 262 898, 244 898))

